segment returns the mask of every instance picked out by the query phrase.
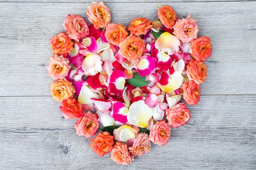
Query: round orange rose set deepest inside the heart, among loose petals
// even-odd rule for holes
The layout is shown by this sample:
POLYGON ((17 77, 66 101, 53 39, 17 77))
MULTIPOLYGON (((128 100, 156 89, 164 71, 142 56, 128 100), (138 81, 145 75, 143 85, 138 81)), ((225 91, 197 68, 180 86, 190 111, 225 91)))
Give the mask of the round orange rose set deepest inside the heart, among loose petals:
POLYGON ((143 39, 130 35, 119 44, 119 52, 128 61, 135 61, 141 58, 142 53, 145 51, 145 46, 143 39))

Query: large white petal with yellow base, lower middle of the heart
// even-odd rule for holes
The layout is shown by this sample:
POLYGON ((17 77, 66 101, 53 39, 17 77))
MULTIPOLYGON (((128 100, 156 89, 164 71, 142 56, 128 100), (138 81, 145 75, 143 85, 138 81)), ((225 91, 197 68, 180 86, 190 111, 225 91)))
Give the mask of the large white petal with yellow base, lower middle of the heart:
POLYGON ((130 124, 145 128, 153 114, 154 108, 146 105, 144 100, 139 100, 130 105, 127 120, 130 124))

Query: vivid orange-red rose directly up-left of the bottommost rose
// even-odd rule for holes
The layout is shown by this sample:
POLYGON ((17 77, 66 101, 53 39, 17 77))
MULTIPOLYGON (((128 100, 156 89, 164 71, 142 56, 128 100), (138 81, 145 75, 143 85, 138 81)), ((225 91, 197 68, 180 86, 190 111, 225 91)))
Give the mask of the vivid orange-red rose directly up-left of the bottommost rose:
POLYGON ((90 146, 92 147, 92 150, 99 156, 104 156, 110 150, 112 150, 114 145, 114 136, 110 135, 109 132, 101 132, 99 133, 94 139, 90 139, 92 144, 90 146))

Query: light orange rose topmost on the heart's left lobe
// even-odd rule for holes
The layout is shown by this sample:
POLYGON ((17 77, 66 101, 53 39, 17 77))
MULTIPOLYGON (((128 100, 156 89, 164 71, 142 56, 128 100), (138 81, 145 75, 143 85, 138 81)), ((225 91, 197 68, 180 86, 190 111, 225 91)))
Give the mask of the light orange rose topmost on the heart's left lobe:
POLYGON ((110 9, 104 2, 94 2, 86 10, 88 20, 92 22, 96 29, 109 26, 111 20, 110 9))

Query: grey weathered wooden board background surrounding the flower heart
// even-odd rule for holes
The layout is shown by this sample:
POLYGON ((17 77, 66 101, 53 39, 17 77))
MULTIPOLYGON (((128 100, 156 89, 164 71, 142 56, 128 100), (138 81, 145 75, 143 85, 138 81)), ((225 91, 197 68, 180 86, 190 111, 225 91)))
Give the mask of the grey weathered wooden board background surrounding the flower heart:
MULTIPOLYGON (((158 4, 211 38, 207 81, 189 123, 128 166, 97 156, 52 99, 49 39, 89 0, 0 0, 0 169, 256 169, 256 1, 106 0, 112 23, 157 19, 158 4)), ((86 21, 87 18, 86 18, 86 21)), ((88 22, 89 23, 89 22, 88 22)))

